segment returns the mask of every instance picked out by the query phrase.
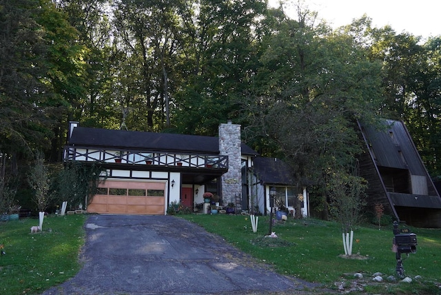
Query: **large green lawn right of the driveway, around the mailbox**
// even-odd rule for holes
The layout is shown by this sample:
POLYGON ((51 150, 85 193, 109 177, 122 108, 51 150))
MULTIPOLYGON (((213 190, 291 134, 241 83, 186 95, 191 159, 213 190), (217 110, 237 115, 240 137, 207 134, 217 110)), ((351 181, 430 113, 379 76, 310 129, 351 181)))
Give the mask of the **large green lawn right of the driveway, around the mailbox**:
POLYGON ((272 231, 289 245, 277 247, 260 243, 269 228, 269 218, 264 216, 259 217, 257 233, 252 232, 248 216, 180 216, 202 225, 208 232, 223 236, 260 261, 270 263, 280 274, 323 283, 335 289, 336 282, 350 285, 356 280, 353 274, 360 272, 368 294, 441 294, 441 230, 411 228, 418 236, 418 250, 403 261, 404 271, 411 278, 419 275, 422 279, 410 284, 372 283, 372 274, 376 272, 381 272, 383 278, 396 275, 396 257, 391 251, 392 225, 381 230, 370 225, 355 228, 353 253, 360 252, 364 259, 347 259, 340 256, 345 252, 337 223, 311 218, 278 222, 272 231))

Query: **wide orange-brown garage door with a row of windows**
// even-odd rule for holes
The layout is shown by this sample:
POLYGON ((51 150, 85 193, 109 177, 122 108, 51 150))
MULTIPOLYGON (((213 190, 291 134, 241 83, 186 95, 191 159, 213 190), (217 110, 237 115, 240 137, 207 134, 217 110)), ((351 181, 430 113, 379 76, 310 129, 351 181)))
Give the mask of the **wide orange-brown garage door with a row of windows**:
POLYGON ((105 181, 98 186, 88 212, 101 214, 165 214, 165 183, 105 181))

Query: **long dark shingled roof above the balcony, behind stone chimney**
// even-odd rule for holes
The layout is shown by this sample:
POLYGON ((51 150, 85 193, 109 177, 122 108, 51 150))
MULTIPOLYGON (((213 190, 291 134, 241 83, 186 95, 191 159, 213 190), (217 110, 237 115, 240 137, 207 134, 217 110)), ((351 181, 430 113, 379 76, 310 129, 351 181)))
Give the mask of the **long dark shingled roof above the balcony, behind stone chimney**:
MULTIPOLYGON (((214 136, 108 130, 76 127, 70 136, 69 145, 96 148, 129 150, 154 150, 187 152, 197 154, 219 154, 219 141, 214 136)), ((257 155, 244 143, 242 154, 257 155)))

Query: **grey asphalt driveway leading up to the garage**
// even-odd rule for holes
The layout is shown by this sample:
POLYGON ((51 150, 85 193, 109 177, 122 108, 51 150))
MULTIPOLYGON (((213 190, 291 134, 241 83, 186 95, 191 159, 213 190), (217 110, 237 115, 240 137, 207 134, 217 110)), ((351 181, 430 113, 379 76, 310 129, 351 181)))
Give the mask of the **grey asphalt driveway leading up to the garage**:
POLYGON ((174 216, 92 215, 85 229, 83 268, 43 294, 296 294, 316 287, 174 216))

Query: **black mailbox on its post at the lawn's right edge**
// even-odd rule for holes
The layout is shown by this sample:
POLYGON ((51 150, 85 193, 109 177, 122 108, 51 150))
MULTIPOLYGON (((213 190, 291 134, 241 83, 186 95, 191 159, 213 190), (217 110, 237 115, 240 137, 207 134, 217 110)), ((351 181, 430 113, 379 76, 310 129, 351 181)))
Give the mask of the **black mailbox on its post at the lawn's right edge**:
POLYGON ((416 234, 410 232, 409 229, 398 229, 398 222, 393 221, 393 247, 397 259, 396 272, 400 278, 404 278, 404 268, 402 266, 401 254, 416 253, 417 239, 416 234))

